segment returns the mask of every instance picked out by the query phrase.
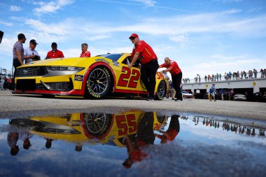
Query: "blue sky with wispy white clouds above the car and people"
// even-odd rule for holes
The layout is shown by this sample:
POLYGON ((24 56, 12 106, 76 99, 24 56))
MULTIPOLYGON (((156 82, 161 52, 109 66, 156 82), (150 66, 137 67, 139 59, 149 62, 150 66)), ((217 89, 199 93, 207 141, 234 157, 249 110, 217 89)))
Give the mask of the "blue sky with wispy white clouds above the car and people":
POLYGON ((0 67, 12 69, 18 34, 35 39, 41 59, 56 42, 65 57, 132 52, 132 33, 183 78, 266 68, 265 0, 1 0, 0 67))

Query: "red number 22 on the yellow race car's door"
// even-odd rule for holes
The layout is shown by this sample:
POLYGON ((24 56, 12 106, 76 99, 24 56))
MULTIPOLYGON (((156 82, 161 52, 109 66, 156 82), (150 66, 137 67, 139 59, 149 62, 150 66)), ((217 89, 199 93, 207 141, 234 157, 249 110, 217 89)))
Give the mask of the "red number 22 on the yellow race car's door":
POLYGON ((122 74, 118 80, 118 86, 136 88, 138 84, 140 73, 136 69, 132 69, 132 72, 126 66, 122 67, 122 74), (130 77, 130 75, 132 76, 130 77), (128 80, 130 78, 130 80, 128 80), (127 85, 128 83, 128 85, 127 85))

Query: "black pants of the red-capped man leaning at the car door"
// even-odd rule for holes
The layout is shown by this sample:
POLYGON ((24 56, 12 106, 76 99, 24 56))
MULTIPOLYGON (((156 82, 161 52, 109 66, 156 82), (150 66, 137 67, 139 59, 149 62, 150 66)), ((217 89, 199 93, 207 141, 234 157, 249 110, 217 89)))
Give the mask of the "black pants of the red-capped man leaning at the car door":
POLYGON ((149 97, 154 97, 156 73, 158 68, 159 64, 157 59, 141 66, 141 80, 149 93, 149 97))

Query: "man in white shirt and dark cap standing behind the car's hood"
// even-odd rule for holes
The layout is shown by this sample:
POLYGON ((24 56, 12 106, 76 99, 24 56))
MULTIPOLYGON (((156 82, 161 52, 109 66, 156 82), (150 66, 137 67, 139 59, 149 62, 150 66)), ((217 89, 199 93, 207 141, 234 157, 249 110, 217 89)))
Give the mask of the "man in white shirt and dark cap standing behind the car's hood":
POLYGON ((38 45, 38 43, 35 39, 31 39, 31 41, 29 41, 29 48, 27 48, 24 52, 25 64, 41 59, 38 52, 35 50, 36 45, 38 45))

